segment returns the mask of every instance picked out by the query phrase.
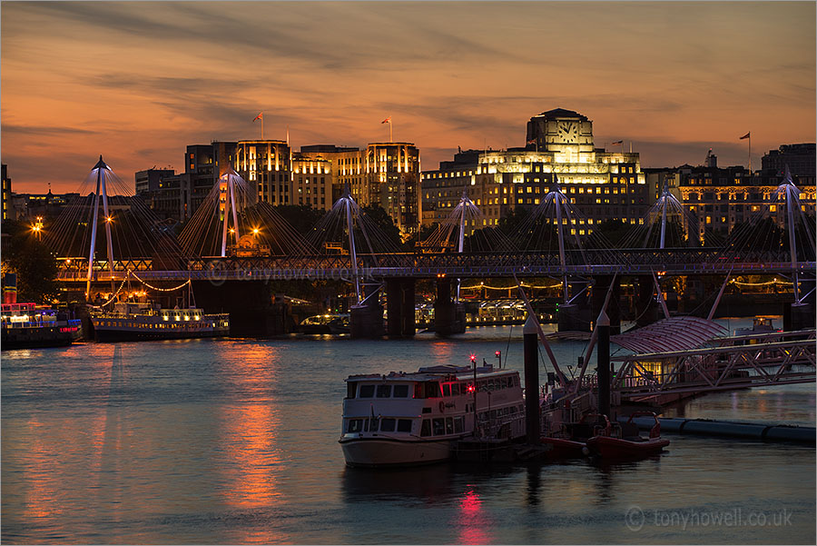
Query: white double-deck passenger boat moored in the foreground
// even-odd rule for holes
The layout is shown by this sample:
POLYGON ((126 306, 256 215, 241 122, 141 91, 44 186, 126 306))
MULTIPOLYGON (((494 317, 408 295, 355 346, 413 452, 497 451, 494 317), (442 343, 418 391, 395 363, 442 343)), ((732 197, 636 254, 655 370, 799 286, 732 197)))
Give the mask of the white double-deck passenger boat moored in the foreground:
POLYGON ((463 438, 525 436, 519 373, 485 365, 350 375, 340 446, 349 466, 408 466, 450 459, 463 438))

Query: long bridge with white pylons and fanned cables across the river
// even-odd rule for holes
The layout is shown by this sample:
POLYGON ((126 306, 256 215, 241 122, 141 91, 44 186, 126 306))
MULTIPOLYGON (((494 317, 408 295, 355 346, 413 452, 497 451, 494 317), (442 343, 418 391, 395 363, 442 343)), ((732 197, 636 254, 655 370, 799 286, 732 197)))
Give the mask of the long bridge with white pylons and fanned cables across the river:
MULTIPOLYGON (((365 331, 378 333, 374 324, 382 320, 382 310, 378 311, 377 294, 385 288, 389 333, 410 335, 418 279, 436 281, 437 312, 452 323, 458 322, 464 278, 553 278, 561 284, 566 318, 576 303, 583 303, 581 298, 593 292, 591 286, 604 294, 624 275, 640 279, 642 299, 654 306, 663 303, 660 280, 670 276, 779 274, 792 282, 795 307, 812 301, 814 293, 813 218, 803 212, 788 173, 770 202, 785 207, 785 236, 763 233, 757 227, 763 219, 760 212, 758 222, 733 230, 716 248, 696 243, 696 219, 666 185, 621 248, 598 230, 577 234, 584 233, 581 228, 588 223, 556 182, 514 233, 479 229, 484 216, 464 194, 448 219, 418 241, 412 252, 390 240, 349 191, 308 233, 302 233, 270 204, 259 202, 251 184, 231 169, 221 175, 178 235, 141 199, 128 195, 102 157, 79 194, 46 232, 46 241, 59 256, 58 280, 74 290, 84 289, 88 298, 92 285, 94 291, 114 297, 116 284, 130 273, 165 287, 192 282, 221 308, 246 303, 241 293, 255 291, 251 299, 269 299, 257 288, 269 281, 338 280, 349 283, 353 323, 357 314, 365 331), (371 318, 363 320, 363 315, 371 318), (391 318, 395 315, 399 321, 391 318)), ((592 299, 589 316, 596 316, 600 302, 596 295, 592 299)), ((615 313, 611 318, 617 322, 615 313)), ((589 319, 568 320, 566 327, 576 329, 578 324, 581 329, 584 323, 589 319)), ((440 328, 445 331, 444 325, 440 328)), ((458 326, 452 328, 456 331, 458 326)))

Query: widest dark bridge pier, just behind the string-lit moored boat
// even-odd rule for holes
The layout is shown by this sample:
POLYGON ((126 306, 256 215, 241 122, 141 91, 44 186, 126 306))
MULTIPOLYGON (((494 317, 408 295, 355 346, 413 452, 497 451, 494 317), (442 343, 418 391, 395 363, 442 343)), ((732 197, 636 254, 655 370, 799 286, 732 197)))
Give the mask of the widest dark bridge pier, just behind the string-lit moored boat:
POLYGON ((230 313, 230 335, 267 336, 290 333, 295 321, 284 302, 272 302, 272 287, 264 281, 193 281, 196 305, 205 313, 230 313))

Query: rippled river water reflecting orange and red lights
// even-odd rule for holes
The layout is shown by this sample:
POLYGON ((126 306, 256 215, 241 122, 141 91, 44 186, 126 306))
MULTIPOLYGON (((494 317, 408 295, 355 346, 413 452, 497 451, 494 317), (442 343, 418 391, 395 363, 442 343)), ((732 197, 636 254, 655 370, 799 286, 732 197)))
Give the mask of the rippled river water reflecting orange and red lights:
MULTIPOLYGON (((350 373, 495 351, 521 372, 521 328, 3 352, 0 540, 815 542, 815 451, 795 445, 668 435, 660 457, 611 466, 345 466, 350 373)), ((583 343, 554 351, 576 362, 583 343)), ((709 394, 673 414, 813 426, 814 408, 809 384, 709 394)))

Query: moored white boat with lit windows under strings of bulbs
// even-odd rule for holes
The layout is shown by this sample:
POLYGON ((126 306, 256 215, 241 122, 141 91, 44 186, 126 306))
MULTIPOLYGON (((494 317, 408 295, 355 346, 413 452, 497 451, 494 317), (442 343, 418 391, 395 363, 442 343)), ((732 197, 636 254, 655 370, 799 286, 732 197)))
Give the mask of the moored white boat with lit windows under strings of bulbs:
POLYGON ((148 303, 114 303, 113 311, 93 313, 98 342, 219 337, 230 333, 230 315, 202 309, 161 309, 148 303))

